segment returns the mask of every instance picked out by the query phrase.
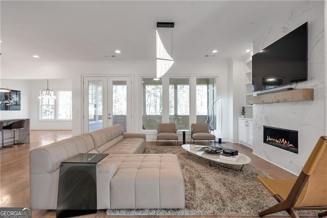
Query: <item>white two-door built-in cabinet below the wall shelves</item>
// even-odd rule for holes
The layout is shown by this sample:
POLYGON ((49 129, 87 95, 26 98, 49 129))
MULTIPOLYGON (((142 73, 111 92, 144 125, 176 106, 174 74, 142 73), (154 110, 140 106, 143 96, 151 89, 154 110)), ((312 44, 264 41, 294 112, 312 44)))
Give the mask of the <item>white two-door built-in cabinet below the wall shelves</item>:
POLYGON ((239 143, 252 148, 253 145, 253 120, 239 119, 239 143))

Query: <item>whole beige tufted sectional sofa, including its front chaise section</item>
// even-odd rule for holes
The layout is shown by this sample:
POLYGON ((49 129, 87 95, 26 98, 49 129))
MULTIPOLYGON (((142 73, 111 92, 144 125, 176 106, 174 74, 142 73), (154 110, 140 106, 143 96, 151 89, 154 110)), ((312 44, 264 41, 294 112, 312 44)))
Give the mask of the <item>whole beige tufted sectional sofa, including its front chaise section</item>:
POLYGON ((183 208, 177 156, 142 154, 145 147, 145 134, 114 125, 31 150, 32 208, 57 209, 60 163, 79 153, 109 154, 97 164, 97 209, 183 208))

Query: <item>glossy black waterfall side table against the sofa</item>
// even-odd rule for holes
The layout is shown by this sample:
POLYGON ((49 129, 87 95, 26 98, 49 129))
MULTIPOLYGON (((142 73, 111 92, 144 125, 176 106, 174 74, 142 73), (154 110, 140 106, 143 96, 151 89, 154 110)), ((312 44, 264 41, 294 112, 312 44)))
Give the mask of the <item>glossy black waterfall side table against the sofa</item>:
POLYGON ((108 154, 78 154, 60 163, 57 217, 97 212, 96 165, 108 154))

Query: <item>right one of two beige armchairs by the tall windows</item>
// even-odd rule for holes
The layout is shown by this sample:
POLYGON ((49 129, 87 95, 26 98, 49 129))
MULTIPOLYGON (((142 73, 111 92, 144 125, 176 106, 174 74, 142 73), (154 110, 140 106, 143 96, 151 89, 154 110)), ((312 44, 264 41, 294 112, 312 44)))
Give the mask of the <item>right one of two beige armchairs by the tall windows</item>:
POLYGON ((211 131, 213 129, 210 129, 209 124, 207 123, 192 123, 191 125, 191 143, 193 139, 193 144, 195 143, 195 140, 215 140, 216 144, 216 136, 211 134, 211 131))

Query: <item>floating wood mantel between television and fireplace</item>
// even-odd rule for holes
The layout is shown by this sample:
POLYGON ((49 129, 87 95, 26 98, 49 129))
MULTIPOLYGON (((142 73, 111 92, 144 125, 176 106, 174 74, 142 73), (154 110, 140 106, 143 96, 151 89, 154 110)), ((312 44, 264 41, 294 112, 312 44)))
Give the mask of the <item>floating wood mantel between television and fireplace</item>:
POLYGON ((297 89, 286 92, 271 93, 250 98, 250 104, 265 104, 290 101, 312 101, 313 89, 297 89))

